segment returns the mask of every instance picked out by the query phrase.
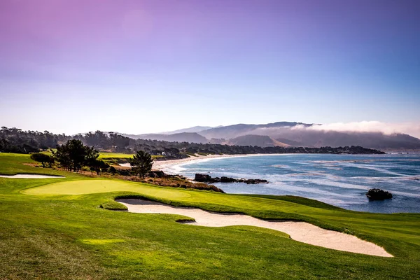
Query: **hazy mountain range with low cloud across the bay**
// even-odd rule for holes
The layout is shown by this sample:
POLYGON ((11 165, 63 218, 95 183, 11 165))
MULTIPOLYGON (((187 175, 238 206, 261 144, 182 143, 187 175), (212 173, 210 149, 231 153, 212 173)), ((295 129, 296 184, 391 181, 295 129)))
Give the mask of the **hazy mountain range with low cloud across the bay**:
POLYGON ((318 130, 314 124, 277 122, 261 125, 228 125, 225 127, 190 127, 165 134, 141 134, 125 136, 134 139, 153 139, 202 144, 228 144, 238 146, 294 146, 339 147, 363 146, 380 150, 420 149, 420 139, 407 134, 383 134, 380 132, 336 132, 318 130), (204 128, 204 130, 201 130, 204 128), (195 131, 195 132, 192 132, 195 131))

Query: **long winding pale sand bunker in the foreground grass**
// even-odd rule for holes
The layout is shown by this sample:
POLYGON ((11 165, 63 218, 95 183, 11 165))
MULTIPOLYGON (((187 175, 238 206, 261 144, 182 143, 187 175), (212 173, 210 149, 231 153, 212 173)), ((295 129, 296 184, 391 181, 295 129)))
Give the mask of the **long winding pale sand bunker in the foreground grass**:
POLYGON ((192 225, 202 225, 206 227, 252 225, 255 227, 286 232, 296 241, 315 246, 351 253, 393 257, 393 255, 387 253, 384 248, 377 246, 376 244, 363 241, 353 235, 346 235, 342 232, 324 230, 323 228, 318 228, 316 225, 311 225, 310 223, 262 221, 258 218, 241 214, 216 214, 201 209, 172 207, 166 204, 146 200, 126 199, 117 201, 124 204, 128 208, 128 211, 134 213, 178 214, 195 218, 195 223, 190 223, 192 225))

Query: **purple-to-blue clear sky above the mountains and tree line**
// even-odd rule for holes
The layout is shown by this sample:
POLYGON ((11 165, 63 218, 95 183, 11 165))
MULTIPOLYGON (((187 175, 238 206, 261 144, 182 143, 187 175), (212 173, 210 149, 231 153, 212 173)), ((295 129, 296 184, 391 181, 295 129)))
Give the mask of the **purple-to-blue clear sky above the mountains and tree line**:
POLYGON ((1 0, 0 125, 420 137, 419 15, 418 0, 1 0))

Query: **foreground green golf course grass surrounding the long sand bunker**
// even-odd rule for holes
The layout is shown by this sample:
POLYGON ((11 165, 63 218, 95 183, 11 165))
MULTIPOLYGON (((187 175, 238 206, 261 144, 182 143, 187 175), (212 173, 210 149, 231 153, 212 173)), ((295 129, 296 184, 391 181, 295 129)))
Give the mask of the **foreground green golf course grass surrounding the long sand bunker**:
POLYGON ((0 154, 0 174, 66 178, 0 179, 0 279, 420 278, 420 214, 368 214, 301 197, 224 195, 90 179, 24 165, 29 162, 27 155, 0 154), (119 209, 115 197, 135 195, 309 221, 374 241, 395 258, 302 244, 262 228, 197 227, 176 223, 183 216, 104 209, 119 209))

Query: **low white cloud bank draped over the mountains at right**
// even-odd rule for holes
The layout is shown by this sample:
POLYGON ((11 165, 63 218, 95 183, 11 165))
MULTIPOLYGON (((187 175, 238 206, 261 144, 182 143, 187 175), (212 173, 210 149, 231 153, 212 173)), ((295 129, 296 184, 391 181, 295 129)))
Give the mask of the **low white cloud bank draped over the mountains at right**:
POLYGON ((330 123, 304 127, 296 125, 292 130, 317 130, 335 132, 381 132, 384 134, 405 133, 413 137, 420 137, 419 123, 381 123, 379 121, 362 121, 353 123, 330 123))

